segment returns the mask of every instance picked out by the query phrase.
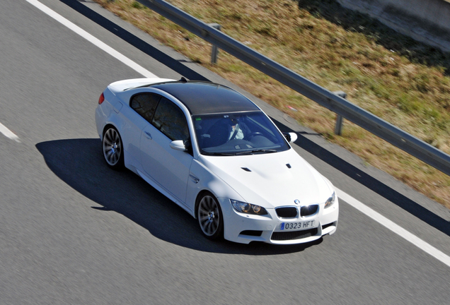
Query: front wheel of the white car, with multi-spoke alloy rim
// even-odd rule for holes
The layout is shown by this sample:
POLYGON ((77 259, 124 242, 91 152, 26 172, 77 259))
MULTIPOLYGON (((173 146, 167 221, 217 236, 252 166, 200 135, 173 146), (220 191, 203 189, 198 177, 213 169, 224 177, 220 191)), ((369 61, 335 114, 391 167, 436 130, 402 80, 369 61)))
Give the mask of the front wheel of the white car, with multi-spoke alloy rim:
POLYGON ((212 193, 204 193, 200 198, 197 219, 204 237, 212 240, 224 237, 224 217, 212 193))

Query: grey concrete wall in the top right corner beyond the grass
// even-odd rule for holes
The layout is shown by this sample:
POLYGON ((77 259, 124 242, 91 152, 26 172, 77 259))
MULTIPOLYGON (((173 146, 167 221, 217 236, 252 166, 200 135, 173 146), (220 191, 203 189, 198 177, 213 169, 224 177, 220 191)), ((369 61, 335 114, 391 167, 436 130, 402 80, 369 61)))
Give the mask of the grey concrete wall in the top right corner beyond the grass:
POLYGON ((337 0, 415 40, 450 52, 450 0, 337 0))

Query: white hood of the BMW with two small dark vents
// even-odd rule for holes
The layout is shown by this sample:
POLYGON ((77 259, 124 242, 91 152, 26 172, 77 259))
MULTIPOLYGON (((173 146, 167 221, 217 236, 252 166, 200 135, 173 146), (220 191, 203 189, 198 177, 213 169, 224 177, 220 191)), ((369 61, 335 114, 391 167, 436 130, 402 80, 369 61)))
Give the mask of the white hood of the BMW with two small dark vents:
POLYGON ((293 149, 242 156, 205 156, 202 162, 248 203, 275 208, 325 203, 333 187, 293 149))

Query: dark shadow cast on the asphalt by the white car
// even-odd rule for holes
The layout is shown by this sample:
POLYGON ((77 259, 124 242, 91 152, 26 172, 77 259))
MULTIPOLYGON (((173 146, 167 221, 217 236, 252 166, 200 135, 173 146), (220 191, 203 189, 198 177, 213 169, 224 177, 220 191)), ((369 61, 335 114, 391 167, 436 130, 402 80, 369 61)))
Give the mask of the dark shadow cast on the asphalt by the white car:
POLYGON ((94 210, 114 211, 136 222, 158 239, 178 246, 214 253, 276 255, 294 253, 321 244, 318 239, 300 245, 264 243, 236 244, 209 241, 191 215, 156 191, 129 170, 110 169, 96 138, 51 140, 37 143, 47 166, 73 189, 100 206, 94 210))

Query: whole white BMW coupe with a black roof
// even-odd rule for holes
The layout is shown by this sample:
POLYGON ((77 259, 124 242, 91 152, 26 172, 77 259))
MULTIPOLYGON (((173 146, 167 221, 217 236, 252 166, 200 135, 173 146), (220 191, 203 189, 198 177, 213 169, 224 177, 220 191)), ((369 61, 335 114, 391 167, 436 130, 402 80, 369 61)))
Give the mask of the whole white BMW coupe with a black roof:
POLYGON ((333 234, 333 185, 253 102, 200 81, 108 85, 96 126, 109 167, 126 167, 195 217, 205 237, 299 244, 333 234))

